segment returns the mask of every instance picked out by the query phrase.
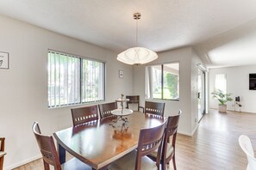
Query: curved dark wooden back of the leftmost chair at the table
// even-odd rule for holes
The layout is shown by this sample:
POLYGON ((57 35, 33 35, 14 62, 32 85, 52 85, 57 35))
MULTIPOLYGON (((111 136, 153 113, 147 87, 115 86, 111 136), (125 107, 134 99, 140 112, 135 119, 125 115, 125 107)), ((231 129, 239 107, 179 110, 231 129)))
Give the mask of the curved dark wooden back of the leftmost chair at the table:
POLYGON ((41 135, 40 127, 37 122, 34 122, 32 130, 41 151, 45 169, 49 170, 49 165, 52 165, 55 170, 61 170, 59 156, 53 142, 53 137, 41 135))

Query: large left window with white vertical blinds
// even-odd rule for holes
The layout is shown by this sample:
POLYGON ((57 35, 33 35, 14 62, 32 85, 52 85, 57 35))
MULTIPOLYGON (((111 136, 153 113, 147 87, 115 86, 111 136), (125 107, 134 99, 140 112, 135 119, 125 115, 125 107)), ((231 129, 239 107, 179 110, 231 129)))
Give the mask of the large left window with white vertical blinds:
POLYGON ((104 100, 105 63, 48 52, 48 107, 104 100))

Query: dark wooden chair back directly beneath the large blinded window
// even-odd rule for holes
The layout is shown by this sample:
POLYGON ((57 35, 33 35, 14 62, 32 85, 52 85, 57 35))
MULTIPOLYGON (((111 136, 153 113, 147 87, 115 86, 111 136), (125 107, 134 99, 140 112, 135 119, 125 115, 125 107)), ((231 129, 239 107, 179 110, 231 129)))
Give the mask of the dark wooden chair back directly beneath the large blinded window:
POLYGON ((73 108, 71 111, 73 126, 98 119, 97 105, 73 108))

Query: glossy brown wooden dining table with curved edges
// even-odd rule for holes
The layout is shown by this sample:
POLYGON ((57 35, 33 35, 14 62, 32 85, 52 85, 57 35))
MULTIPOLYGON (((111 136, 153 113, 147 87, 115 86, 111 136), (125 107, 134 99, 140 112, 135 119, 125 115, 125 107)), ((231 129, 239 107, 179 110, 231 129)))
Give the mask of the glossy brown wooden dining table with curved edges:
POLYGON ((53 133, 59 161, 66 161, 66 151, 92 169, 107 169, 110 163, 137 148, 140 129, 162 124, 164 118, 142 112, 113 115, 78 124, 53 133))

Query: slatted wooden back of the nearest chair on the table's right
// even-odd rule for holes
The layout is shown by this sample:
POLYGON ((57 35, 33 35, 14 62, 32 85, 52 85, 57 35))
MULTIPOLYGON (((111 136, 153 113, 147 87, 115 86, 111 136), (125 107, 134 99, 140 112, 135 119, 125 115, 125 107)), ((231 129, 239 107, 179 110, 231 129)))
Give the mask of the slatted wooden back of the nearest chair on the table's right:
POLYGON ((165 123, 153 128, 140 130, 140 137, 137 148, 137 158, 135 163, 136 170, 140 170, 141 157, 153 153, 153 151, 156 149, 159 150, 156 160, 156 165, 157 167, 159 167, 164 131, 165 123))

